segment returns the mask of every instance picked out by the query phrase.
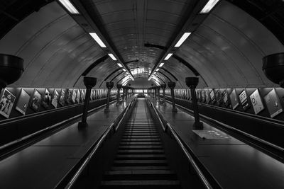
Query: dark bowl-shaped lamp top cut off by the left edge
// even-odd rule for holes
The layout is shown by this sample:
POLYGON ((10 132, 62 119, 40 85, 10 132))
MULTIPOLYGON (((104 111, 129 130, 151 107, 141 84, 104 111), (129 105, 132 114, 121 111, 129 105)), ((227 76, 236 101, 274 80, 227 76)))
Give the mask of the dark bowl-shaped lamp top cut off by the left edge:
POLYGON ((0 54, 0 93, 2 88, 17 81, 23 74, 23 59, 0 54))

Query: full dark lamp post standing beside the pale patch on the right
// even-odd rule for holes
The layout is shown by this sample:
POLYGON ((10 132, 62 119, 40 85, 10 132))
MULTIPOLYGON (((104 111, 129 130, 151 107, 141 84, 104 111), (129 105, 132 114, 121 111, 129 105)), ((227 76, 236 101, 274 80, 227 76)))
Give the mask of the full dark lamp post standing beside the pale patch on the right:
POLYGON ((198 77, 187 77, 185 78, 185 83, 190 88, 190 93, 192 96, 192 108, 193 112, 195 114, 195 127, 197 129, 203 129, 203 123, 200 122, 200 113, 198 111, 198 105, 197 105, 197 98, 195 93, 195 88, 198 84, 198 77))

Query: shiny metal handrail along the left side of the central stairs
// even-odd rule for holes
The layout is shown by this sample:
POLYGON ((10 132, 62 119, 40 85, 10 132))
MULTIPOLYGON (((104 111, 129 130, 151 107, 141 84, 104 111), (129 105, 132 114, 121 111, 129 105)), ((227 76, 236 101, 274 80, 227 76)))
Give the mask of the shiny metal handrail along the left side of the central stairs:
MULTIPOLYGON (((135 98, 131 101, 131 103, 135 100, 135 98)), ((129 105, 127 105, 126 110, 124 111, 124 115, 122 116, 121 120, 124 120, 124 117, 126 115, 127 110, 129 110, 129 107, 131 106, 131 103, 129 103, 129 105)), ((121 124, 121 120, 119 121, 118 125, 121 124)), ((96 146, 94 146, 94 148, 92 149, 92 151, 89 153, 89 155, 87 156, 87 158, 84 160, 84 162, 82 163, 82 165, 80 166, 80 168, 78 168, 78 170, 76 171, 75 175, 72 177, 72 179, 67 183, 67 185, 65 186, 65 189, 70 189, 73 187, 73 185, 75 184, 75 182, 77 181, 77 179, 79 178, 79 176, 81 175, 82 171, 84 171, 84 168, 89 164, 89 161, 91 161, 92 157, 94 156, 94 154, 96 153, 97 149, 99 149, 99 147, 102 145, 102 142, 104 142, 104 139, 107 137, 107 134, 109 134, 109 132, 111 131, 112 127, 114 127, 114 125, 116 125, 116 120, 114 122, 111 123, 111 125, 107 128, 107 130, 104 132, 104 134, 102 135, 102 137, 99 139, 99 142, 97 142, 96 146)))

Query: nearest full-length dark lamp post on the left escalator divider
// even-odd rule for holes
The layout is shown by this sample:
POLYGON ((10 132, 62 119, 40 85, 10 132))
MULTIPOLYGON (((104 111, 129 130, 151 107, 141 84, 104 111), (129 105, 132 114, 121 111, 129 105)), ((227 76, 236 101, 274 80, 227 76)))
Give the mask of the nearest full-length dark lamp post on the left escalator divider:
POLYGON ((83 115, 82 121, 78 123, 78 127, 87 127, 87 114, 88 114, 88 106, 89 106, 89 97, 91 94, 92 88, 97 84, 97 78, 95 77, 84 77, 84 85, 86 86, 86 96, 84 100, 84 108, 83 108, 83 115))

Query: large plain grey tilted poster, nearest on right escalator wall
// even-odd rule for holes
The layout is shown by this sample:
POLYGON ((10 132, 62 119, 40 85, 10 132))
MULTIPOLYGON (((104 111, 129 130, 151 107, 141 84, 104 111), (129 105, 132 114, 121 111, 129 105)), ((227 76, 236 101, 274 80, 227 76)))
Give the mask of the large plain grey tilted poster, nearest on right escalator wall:
POLYGON ((266 101, 268 112, 270 113, 271 118, 283 112, 279 98, 275 92, 275 88, 273 88, 273 90, 264 97, 264 101, 266 101))

